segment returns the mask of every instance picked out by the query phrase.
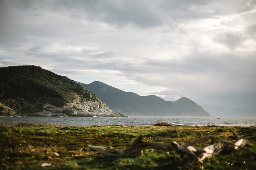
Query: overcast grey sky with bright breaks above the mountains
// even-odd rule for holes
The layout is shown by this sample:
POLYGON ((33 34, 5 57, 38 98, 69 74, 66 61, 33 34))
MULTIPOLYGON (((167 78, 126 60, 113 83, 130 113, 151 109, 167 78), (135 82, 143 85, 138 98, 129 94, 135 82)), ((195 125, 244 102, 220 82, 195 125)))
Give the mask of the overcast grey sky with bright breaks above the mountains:
POLYGON ((0 0, 0 67, 256 116, 255 18, 255 0, 0 0))

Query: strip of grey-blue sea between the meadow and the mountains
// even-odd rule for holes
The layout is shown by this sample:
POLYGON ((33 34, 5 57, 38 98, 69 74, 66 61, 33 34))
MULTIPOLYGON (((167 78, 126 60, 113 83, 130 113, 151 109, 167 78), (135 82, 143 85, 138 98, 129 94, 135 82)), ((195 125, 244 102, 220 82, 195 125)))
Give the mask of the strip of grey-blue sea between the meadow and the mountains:
POLYGON ((46 123, 65 126, 93 126, 93 125, 122 125, 122 126, 152 126, 156 121, 174 125, 189 126, 256 126, 256 117, 176 117, 176 116, 130 116, 129 118, 105 117, 29 117, 2 116, 1 124, 16 123, 46 123))

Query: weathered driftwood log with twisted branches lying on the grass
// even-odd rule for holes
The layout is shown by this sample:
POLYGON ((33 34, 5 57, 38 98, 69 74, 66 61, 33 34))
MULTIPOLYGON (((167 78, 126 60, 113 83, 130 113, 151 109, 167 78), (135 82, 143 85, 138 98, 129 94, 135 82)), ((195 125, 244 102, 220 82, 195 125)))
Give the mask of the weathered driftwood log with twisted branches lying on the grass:
MULTIPOLYGON (((163 150, 169 153, 169 151, 176 151, 180 154, 183 159, 195 159, 197 162, 202 162, 204 159, 212 157, 212 155, 219 155, 224 153, 230 153, 238 148, 243 148, 249 142, 245 139, 240 139, 240 137, 230 129, 233 133, 236 143, 230 143, 222 139, 218 139, 221 142, 215 143, 215 138, 211 135, 195 139, 194 141, 183 143, 172 141, 171 143, 160 143, 160 142, 144 142, 142 141, 143 135, 139 135, 130 147, 125 150, 109 149, 102 146, 92 146, 87 147, 98 151, 99 153, 112 156, 112 157, 137 157, 142 154, 143 149, 157 149, 163 150), (194 145, 196 143, 210 139, 210 145, 201 149, 194 145)), ((255 153, 254 153, 255 154, 255 153)))

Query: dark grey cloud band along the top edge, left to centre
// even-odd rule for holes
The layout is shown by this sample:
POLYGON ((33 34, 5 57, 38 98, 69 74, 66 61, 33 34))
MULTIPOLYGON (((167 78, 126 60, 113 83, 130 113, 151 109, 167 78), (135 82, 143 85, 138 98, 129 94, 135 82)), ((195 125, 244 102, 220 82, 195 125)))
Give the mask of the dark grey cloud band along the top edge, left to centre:
MULTIPOLYGON (((7 3, 9 4, 9 3, 7 3)), ((133 24, 141 28, 155 27, 162 23, 158 12, 154 11, 154 1, 95 1, 95 0, 61 0, 61 1, 12 1, 11 5, 22 9, 36 9, 33 16, 41 11, 62 12, 74 19, 88 19, 123 27, 133 24), (147 5, 145 5, 147 3, 147 5)))

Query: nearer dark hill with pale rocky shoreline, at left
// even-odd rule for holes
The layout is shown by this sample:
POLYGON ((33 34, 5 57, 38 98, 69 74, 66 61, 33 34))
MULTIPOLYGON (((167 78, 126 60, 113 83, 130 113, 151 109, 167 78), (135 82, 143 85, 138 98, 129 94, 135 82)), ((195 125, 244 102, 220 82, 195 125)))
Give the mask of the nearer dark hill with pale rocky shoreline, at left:
POLYGON ((0 80, 0 115, 125 117, 73 80, 41 67, 2 67, 0 80))

